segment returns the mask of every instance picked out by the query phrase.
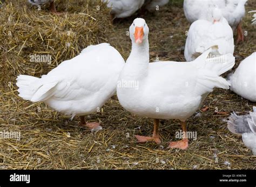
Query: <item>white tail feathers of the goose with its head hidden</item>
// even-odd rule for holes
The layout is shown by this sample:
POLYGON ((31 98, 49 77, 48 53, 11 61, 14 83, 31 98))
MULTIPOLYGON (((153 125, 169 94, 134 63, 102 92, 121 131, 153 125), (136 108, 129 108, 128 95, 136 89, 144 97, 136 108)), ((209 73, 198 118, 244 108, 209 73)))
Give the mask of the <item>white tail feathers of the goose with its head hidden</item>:
POLYGON ((28 75, 19 75, 16 80, 18 96, 32 102, 43 101, 51 97, 53 95, 52 88, 58 83, 57 81, 45 83, 42 78, 28 75))

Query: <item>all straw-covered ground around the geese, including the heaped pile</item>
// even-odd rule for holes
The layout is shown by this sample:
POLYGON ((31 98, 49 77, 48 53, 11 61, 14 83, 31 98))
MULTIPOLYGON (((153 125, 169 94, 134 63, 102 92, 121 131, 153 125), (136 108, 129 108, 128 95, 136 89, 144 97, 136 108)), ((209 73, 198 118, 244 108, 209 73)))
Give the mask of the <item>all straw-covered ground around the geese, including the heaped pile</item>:
MULTIPOLYGON (((161 145, 136 144, 133 135, 151 135, 152 121, 125 111, 117 98, 109 100, 101 113, 87 117, 89 121, 102 121, 103 130, 97 133, 78 127, 77 118, 69 121, 69 116, 52 111, 43 103, 19 98, 14 82, 19 73, 39 77, 87 45, 107 40, 126 58, 131 49, 126 31, 136 17, 144 16, 150 26, 151 61, 157 56, 159 60, 184 60, 180 51, 190 24, 182 1, 173 0, 153 14, 138 13, 115 20, 113 29, 109 9, 104 5, 100 5, 100 11, 95 9, 99 1, 59 2, 56 1, 57 10, 65 12, 60 16, 49 13, 49 4, 38 11, 26 0, 19 5, 8 1, 0 10, 0 79, 5 80, 5 90, 0 92, 0 131, 21 132, 19 141, 0 138, 0 169, 256 169, 256 157, 239 136, 227 130, 227 114, 215 112, 218 107, 219 112, 234 110, 245 114, 255 105, 230 90, 214 90, 203 103, 209 109, 198 111, 201 117, 188 119, 188 130, 196 131, 198 139, 191 141, 187 150, 167 149, 169 141, 177 140, 175 133, 180 130, 179 121, 175 120, 161 121, 161 145), (70 36, 68 31, 72 31, 70 36), (43 52, 52 55, 51 64, 29 62, 30 54, 43 52)), ((253 5, 250 0, 246 11, 255 10, 253 5)), ((237 65, 256 51, 251 15, 246 15, 242 24, 248 37, 235 48, 237 65)))

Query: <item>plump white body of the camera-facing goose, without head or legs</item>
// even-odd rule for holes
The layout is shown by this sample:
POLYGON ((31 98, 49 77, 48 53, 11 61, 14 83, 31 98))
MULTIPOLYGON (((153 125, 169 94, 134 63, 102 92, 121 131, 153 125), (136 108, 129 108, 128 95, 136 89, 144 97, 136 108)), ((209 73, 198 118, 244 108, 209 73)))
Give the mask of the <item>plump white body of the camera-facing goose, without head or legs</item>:
POLYGON ((214 87, 228 88, 218 74, 234 66, 233 55, 225 63, 206 63, 210 51, 194 62, 153 62, 132 53, 120 73, 119 81, 138 82, 137 88, 117 88, 120 104, 132 113, 155 119, 185 121, 198 110, 201 96, 214 87), (142 63, 143 59, 147 63, 142 63))

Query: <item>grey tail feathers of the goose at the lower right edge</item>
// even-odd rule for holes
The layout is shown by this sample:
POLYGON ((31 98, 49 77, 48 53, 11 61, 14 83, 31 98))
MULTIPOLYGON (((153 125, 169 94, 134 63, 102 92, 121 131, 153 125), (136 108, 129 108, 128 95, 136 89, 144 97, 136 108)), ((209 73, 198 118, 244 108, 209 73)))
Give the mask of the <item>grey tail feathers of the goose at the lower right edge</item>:
POLYGON ((247 122, 248 115, 237 116, 237 114, 233 112, 228 119, 227 128, 230 132, 239 135, 252 132, 247 122))

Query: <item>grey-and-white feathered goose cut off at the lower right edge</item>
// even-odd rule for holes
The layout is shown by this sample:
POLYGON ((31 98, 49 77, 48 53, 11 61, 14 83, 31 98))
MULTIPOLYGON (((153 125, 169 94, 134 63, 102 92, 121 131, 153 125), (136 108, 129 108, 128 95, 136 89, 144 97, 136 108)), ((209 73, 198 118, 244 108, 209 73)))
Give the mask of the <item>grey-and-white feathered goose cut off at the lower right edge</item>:
POLYGON ((227 121, 227 128, 234 134, 242 135, 245 146, 256 155, 256 107, 253 112, 244 116, 237 116, 233 112, 227 121))

